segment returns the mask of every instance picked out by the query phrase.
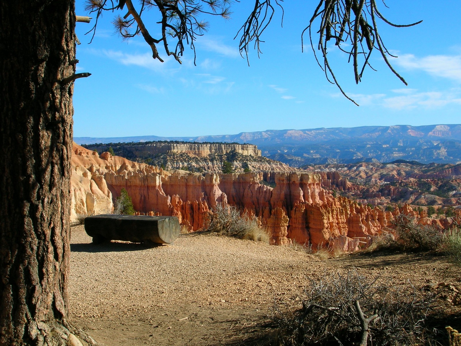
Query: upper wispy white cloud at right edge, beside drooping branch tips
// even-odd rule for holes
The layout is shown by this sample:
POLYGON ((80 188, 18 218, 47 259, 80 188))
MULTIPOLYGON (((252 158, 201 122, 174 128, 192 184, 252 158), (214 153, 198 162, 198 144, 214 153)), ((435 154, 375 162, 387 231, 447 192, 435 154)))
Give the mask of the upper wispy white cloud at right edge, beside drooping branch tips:
POLYGON ((432 76, 453 79, 461 83, 461 55, 429 55, 418 58, 403 54, 393 59, 399 66, 409 70, 422 70, 432 76))

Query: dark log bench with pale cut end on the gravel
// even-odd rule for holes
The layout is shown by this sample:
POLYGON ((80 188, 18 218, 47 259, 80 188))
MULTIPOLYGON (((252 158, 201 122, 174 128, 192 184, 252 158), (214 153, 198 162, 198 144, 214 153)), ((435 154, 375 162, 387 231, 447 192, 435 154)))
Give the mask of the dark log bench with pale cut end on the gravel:
POLYGON ((171 244, 180 231, 176 216, 103 214, 85 218, 85 231, 93 243, 123 240, 133 243, 171 244))

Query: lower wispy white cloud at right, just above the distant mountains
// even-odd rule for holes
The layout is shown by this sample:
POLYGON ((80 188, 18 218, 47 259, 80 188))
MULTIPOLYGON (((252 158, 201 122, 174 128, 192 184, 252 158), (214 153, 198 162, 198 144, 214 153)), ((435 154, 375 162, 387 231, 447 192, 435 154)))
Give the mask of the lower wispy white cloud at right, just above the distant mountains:
POLYGON ((426 91, 420 92, 417 89, 394 89, 396 95, 386 94, 350 94, 361 106, 381 106, 396 110, 414 108, 438 108, 451 103, 461 104, 460 90, 449 91, 426 91))

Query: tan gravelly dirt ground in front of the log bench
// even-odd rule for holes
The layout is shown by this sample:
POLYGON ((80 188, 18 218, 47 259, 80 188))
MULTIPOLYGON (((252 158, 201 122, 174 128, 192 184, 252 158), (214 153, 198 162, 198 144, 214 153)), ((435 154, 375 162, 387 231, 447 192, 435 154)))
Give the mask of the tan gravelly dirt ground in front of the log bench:
POLYGON ((270 334, 274 302, 295 306, 311 278, 352 267, 394 284, 460 280, 443 257, 320 261, 290 248, 210 234, 182 235, 155 248, 93 245, 79 226, 71 237, 71 320, 108 346, 248 345, 270 334))

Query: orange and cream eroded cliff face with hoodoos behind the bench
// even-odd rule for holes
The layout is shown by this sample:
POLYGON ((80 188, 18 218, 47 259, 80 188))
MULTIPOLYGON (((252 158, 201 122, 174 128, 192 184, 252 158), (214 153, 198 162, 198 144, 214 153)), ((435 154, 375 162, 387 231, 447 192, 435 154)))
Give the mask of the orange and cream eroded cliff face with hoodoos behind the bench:
MULTIPOLYGON (((134 208, 142 213, 173 215, 189 230, 204 226, 217 204, 237 206, 260 218, 272 233, 272 242, 336 246, 344 251, 369 244, 389 230, 400 213, 359 206, 345 197, 333 197, 323 186, 340 185, 336 175, 315 173, 231 173, 204 175, 136 163, 105 152, 98 155, 74 144, 72 156, 72 219, 77 214, 110 212, 112 201, 125 188, 134 208), (275 182, 275 188, 261 185, 275 182)), ((413 215, 412 214, 412 215, 413 215)), ((427 215, 421 222, 434 223, 427 215)), ((436 221, 436 223, 440 221, 436 221)), ((443 225, 440 225, 443 226, 443 225)))

